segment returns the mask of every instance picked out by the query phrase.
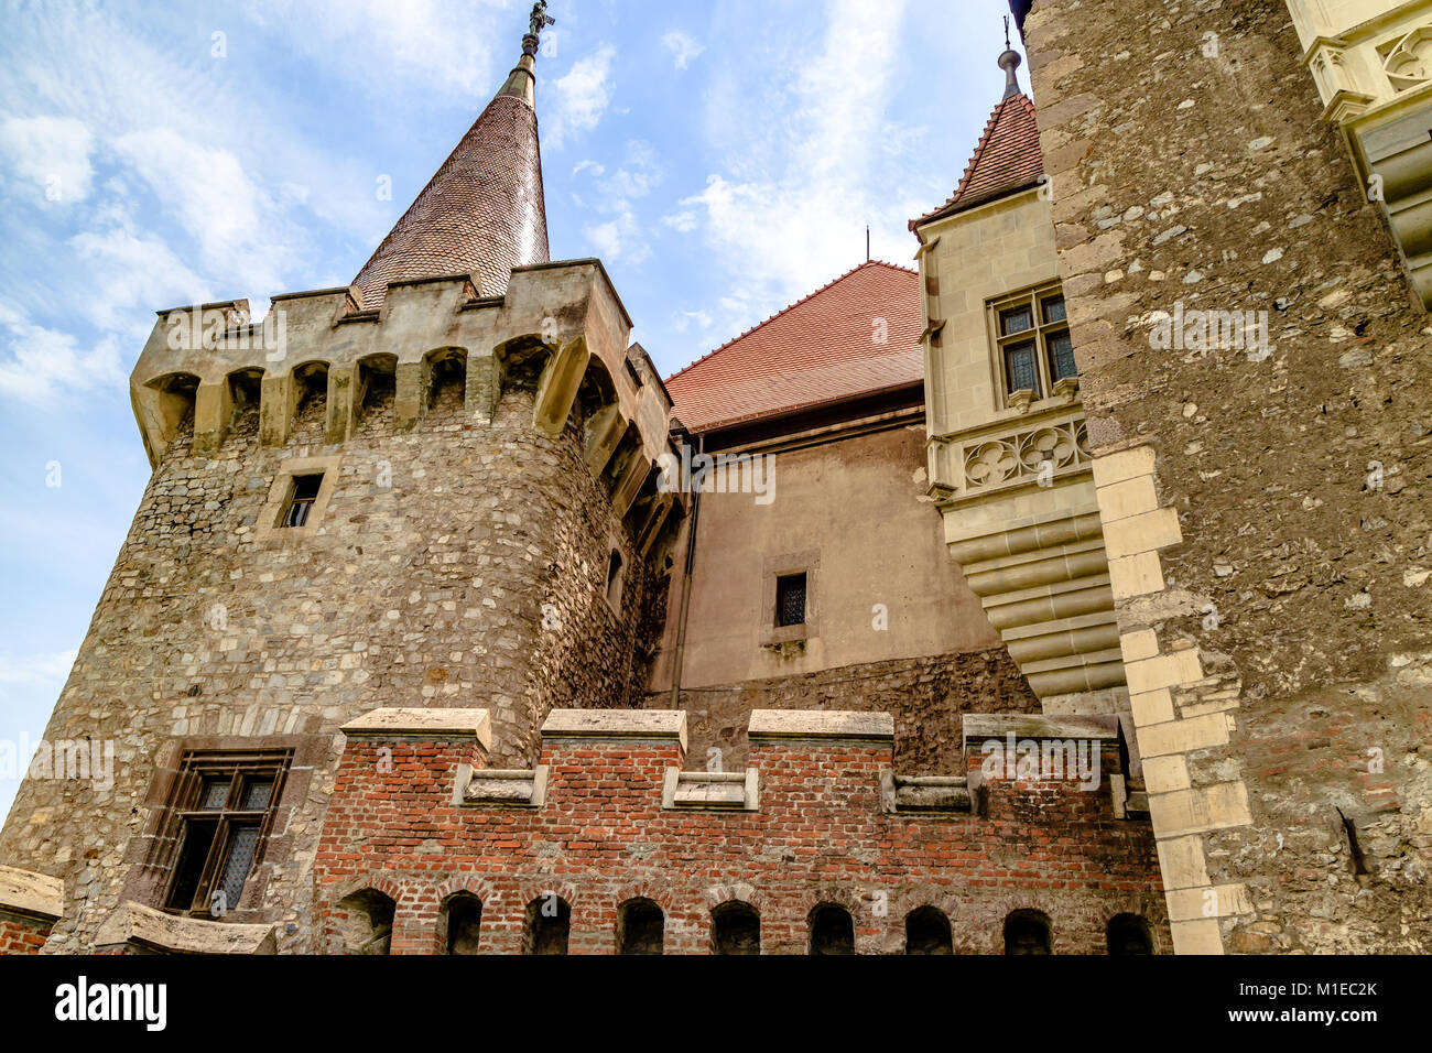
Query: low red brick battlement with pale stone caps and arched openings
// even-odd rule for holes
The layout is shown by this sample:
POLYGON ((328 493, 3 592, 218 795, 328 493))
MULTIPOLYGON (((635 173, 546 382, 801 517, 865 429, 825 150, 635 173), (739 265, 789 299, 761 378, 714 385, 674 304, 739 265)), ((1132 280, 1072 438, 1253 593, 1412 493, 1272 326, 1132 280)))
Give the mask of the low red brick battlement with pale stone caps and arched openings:
POLYGON ((395 953, 440 951, 454 895, 481 904, 493 953, 531 946, 543 897, 587 953, 614 950, 637 900, 667 951, 709 950, 732 901, 768 951, 805 953, 822 904, 868 951, 898 950, 921 908, 958 914, 971 953, 998 948, 1011 911, 1050 918, 1058 950, 1101 951, 1126 914, 1167 947, 1151 834, 1117 818, 1117 721, 969 723, 964 775, 895 772, 886 713, 806 711, 753 712, 745 771, 692 772, 684 712, 556 709, 537 765, 490 771, 483 711, 369 713, 342 729, 315 861, 328 950, 369 946, 381 917, 395 953))

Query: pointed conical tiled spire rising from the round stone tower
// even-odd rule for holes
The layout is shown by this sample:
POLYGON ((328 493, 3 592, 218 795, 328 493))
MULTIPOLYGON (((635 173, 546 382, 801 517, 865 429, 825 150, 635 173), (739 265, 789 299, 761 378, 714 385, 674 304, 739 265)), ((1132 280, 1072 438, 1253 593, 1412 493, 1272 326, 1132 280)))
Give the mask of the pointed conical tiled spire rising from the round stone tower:
POLYGON ((458 274, 475 275, 480 295, 498 297, 514 266, 548 262, 533 109, 537 43, 536 29, 523 37, 507 83, 354 278, 364 308, 382 304, 388 282, 458 274))

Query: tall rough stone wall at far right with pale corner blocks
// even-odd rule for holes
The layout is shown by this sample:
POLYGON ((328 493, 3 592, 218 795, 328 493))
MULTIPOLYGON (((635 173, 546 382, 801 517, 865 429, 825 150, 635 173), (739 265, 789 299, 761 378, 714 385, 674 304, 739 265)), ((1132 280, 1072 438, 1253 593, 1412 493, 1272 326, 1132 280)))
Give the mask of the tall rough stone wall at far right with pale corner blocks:
POLYGON ((1426 953, 1432 328, 1379 206, 1280 0, 1024 34, 1176 946, 1426 953))

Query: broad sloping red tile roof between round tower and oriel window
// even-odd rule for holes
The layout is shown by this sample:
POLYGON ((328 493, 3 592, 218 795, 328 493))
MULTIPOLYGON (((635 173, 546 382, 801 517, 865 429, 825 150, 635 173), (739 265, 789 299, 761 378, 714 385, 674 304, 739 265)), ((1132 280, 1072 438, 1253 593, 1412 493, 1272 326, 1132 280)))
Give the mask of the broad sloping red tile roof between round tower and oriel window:
POLYGON ((692 431, 862 395, 924 377, 919 275, 871 261, 667 378, 692 431), (885 319, 886 342, 876 344, 885 319))

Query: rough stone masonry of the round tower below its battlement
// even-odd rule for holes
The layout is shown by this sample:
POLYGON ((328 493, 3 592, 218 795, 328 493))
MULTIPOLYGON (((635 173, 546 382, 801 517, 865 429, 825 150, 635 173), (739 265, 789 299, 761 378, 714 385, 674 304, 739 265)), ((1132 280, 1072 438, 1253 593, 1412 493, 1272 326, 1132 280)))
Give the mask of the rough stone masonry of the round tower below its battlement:
MULTIPOLYGON (((113 741, 113 788, 27 779, 0 837, 0 860, 66 883, 47 950, 83 950, 117 905, 176 739, 331 738, 378 706, 478 702, 501 731, 500 759, 530 764, 547 709, 640 701, 646 572, 583 463, 580 407, 547 438, 533 428, 534 381, 504 388, 491 425, 461 423, 440 391, 417 430, 395 431, 379 394, 342 446, 321 446, 308 427, 321 407, 308 407, 284 448, 258 444, 252 413, 212 458, 190 456, 188 436, 172 447, 46 732, 113 741), (342 458, 322 533, 259 537, 279 466, 319 456, 342 458), (627 567, 620 613, 604 597, 613 542, 627 567)), ((284 923, 286 951, 311 946, 309 867, 337 761, 319 752, 306 798, 271 838, 284 858, 262 903, 232 913, 284 923)))

